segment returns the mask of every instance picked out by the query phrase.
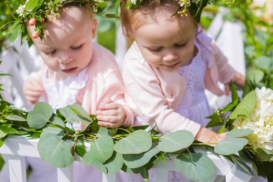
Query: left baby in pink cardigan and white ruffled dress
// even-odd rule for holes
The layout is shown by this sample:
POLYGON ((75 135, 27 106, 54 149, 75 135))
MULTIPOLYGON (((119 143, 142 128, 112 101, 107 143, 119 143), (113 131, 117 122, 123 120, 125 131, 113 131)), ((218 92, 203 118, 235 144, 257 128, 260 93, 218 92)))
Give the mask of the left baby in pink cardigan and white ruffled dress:
MULTIPOLYGON (((114 56, 92 43, 97 26, 94 14, 84 6, 71 5, 63 7, 60 15, 48 17, 42 41, 33 39, 44 62, 24 83, 26 99, 36 104, 44 94, 53 108, 82 105, 89 114, 97 115, 100 126, 132 125, 134 115, 125 103, 125 88, 114 56)), ((34 27, 28 28, 35 35, 34 27)), ((80 129, 80 125, 73 123, 73 128, 80 129)), ((42 160, 28 160, 33 168, 29 181, 56 181, 56 169, 42 160)), ((102 180, 100 171, 81 162, 74 163, 74 170, 75 181, 102 180)))

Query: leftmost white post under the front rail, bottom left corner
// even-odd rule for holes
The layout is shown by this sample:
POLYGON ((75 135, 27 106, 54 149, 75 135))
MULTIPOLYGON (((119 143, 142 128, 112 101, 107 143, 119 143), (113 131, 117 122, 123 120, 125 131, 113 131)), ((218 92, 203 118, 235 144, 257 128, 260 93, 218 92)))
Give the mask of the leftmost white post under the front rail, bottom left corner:
POLYGON ((26 182, 26 161, 24 156, 7 155, 11 182, 26 182))

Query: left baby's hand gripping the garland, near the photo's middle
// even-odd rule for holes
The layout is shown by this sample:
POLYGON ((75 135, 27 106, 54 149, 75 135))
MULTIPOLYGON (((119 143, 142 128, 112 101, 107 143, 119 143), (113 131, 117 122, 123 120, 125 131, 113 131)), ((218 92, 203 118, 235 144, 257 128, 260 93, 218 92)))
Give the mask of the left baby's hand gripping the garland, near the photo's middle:
POLYGON ((125 110, 121 104, 110 99, 104 99, 99 109, 96 111, 97 119, 100 120, 98 125, 110 128, 117 128, 122 125, 125 118, 125 110))

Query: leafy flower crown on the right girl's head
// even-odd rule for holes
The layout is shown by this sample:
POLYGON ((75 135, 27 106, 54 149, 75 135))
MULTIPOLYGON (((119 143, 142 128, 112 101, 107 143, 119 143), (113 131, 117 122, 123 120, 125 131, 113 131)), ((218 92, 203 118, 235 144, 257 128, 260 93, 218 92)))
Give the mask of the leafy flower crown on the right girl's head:
MULTIPOLYGON (((120 0, 119 0, 120 1, 120 0)), ((129 9, 135 9, 137 8, 144 0, 130 0, 124 7, 129 9)), ((226 5, 230 7, 232 3, 234 3, 235 0, 175 0, 180 5, 177 12, 174 14, 181 14, 181 16, 187 16, 187 11, 191 13, 191 15, 195 18, 195 20, 199 23, 201 19, 201 13, 204 7, 206 7, 207 4, 215 3, 218 1, 222 1, 226 5)), ((118 0, 116 1, 116 3, 118 0)), ((117 14, 116 14, 117 17, 117 14)))

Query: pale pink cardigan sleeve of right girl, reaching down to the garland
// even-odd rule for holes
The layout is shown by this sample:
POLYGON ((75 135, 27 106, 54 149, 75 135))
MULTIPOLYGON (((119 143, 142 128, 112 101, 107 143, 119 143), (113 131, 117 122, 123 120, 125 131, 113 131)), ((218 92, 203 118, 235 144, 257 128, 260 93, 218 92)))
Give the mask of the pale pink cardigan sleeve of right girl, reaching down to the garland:
POLYGON ((130 59, 123 65, 123 81, 126 86, 125 100, 129 107, 146 123, 162 134, 188 130, 195 136, 200 124, 191 121, 168 108, 160 80, 138 60, 130 59))

